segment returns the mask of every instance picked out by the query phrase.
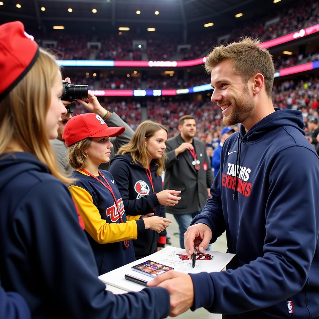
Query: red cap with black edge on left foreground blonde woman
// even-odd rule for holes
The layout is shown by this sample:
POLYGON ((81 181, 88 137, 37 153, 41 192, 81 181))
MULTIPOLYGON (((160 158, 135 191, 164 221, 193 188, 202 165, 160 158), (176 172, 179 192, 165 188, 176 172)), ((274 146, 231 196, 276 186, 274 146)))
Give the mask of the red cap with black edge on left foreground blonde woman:
POLYGON ((27 74, 39 56, 38 44, 20 21, 0 26, 0 100, 27 74))

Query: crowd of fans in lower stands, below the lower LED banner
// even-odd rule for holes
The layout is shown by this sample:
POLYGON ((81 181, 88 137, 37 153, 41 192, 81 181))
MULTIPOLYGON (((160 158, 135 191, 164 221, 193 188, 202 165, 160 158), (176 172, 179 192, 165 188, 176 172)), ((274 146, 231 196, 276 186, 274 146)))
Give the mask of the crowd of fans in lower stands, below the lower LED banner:
MULTIPOLYGON (((305 78, 297 83, 293 80, 283 81, 274 85, 272 100, 274 107, 300 109, 309 134, 307 123, 310 118, 319 120, 319 78, 305 78)), ((146 100, 149 119, 160 122, 169 130, 169 137, 178 134, 178 119, 183 115, 193 115, 197 122, 196 137, 206 144, 211 144, 217 138, 223 127, 221 109, 216 103, 206 100, 192 101, 187 96, 183 100, 172 97, 146 100)), ((113 101, 101 102, 110 111, 117 113, 130 127, 135 130, 141 122, 141 102, 113 101)), ((75 112, 84 113, 86 110, 78 106, 75 112)))

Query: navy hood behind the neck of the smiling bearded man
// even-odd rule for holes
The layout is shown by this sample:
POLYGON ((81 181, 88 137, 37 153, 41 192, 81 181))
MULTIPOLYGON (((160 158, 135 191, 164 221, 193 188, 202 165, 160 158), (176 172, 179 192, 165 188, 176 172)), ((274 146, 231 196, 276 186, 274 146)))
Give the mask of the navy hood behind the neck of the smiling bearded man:
POLYGON ((292 126, 305 135, 305 123, 300 110, 275 108, 275 112, 256 123, 247 133, 241 124, 239 134, 243 142, 255 142, 266 132, 282 126, 292 126))

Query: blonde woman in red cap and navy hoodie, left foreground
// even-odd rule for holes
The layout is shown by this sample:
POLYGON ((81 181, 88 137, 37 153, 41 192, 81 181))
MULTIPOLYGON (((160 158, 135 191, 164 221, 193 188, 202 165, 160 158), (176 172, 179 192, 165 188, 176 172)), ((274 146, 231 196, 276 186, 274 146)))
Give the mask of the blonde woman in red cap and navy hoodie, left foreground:
POLYGON ((165 318, 163 288, 114 295, 92 249, 49 139, 66 114, 62 77, 21 22, 0 26, 0 274, 32 318, 165 318))

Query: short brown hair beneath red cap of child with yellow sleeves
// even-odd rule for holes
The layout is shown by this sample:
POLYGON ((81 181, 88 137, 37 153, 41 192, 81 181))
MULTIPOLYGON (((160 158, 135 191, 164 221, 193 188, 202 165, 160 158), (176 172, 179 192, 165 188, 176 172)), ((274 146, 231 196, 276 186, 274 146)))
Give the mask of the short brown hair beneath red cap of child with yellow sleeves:
POLYGON ((88 159, 85 150, 91 145, 92 139, 87 137, 80 140, 68 147, 68 163, 74 169, 84 168, 86 164, 86 159, 88 159))

